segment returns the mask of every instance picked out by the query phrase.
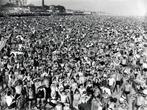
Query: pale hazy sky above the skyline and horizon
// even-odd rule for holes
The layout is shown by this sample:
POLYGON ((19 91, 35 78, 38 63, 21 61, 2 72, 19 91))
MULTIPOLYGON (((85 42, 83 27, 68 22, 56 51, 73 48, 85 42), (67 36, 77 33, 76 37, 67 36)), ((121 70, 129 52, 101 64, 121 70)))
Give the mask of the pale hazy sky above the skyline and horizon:
MULTIPOLYGON (((27 0, 27 2, 41 5, 42 0, 27 0)), ((147 0, 45 0, 45 4, 63 5, 67 9, 74 10, 102 11, 113 15, 144 16, 147 14, 147 0)))

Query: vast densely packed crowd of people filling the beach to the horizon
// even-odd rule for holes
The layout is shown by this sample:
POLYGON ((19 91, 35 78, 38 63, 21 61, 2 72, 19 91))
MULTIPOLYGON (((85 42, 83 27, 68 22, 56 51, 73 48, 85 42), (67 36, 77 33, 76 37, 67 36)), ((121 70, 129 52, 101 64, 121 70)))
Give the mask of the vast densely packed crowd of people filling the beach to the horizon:
POLYGON ((140 19, 1 17, 0 38, 1 110, 147 110, 140 19))

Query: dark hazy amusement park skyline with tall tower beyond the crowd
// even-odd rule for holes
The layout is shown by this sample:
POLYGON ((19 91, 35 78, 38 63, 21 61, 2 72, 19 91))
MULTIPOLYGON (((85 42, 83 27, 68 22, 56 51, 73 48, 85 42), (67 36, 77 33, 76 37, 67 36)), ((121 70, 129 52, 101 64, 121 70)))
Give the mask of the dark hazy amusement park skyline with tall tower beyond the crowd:
MULTIPOLYGON (((46 5, 45 0, 40 0, 39 6, 28 5, 28 0, 8 0, 0 7, 2 15, 6 14, 29 14, 29 15, 50 15, 50 14, 69 14, 69 15, 89 15, 90 11, 70 10, 61 5, 46 5)), ((0 14, 1 14, 0 13, 0 14)))

